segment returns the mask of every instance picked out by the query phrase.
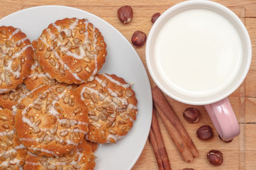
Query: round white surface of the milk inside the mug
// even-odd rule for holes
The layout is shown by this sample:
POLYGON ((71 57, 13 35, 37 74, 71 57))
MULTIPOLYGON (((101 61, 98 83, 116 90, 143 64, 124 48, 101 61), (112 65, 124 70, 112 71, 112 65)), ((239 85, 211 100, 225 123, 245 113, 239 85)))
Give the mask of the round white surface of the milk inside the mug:
POLYGON ((226 88, 240 69, 243 47, 223 16, 191 9, 161 28, 154 47, 162 79, 186 96, 209 96, 226 88))

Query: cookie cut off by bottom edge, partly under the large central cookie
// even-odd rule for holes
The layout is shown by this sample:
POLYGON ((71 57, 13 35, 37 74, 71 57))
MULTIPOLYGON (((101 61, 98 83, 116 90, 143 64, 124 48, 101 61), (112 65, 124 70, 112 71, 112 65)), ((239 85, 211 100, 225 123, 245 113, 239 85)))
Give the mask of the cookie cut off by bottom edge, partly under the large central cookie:
POLYGON ((36 157, 28 154, 24 168, 25 170, 92 170, 95 166, 94 159, 96 159, 96 157, 94 156, 94 153, 91 152, 91 147, 87 145, 85 140, 83 140, 77 148, 72 149, 69 153, 63 155, 62 157, 36 157))

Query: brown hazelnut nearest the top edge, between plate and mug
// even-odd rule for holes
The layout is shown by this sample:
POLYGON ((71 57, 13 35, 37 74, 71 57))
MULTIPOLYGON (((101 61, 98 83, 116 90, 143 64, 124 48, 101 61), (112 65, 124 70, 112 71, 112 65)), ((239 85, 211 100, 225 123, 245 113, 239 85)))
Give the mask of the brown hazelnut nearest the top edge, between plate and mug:
POLYGON ((133 18, 133 9, 130 6, 118 8, 117 15, 122 23, 129 23, 133 18))

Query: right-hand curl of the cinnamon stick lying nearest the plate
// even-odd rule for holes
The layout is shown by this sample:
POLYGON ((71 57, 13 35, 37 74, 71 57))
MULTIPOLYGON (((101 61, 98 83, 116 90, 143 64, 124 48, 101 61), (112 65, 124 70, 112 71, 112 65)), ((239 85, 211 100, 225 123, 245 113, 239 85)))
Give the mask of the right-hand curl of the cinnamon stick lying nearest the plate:
POLYGON ((164 166, 165 170, 172 170, 171 165, 169 164, 169 158, 167 155, 167 151, 165 148, 164 140, 162 139, 162 133, 157 122, 157 115, 155 113, 155 109, 152 111, 152 132, 155 136, 155 141, 157 142, 157 146, 160 152, 160 157, 162 159, 162 165, 164 166))

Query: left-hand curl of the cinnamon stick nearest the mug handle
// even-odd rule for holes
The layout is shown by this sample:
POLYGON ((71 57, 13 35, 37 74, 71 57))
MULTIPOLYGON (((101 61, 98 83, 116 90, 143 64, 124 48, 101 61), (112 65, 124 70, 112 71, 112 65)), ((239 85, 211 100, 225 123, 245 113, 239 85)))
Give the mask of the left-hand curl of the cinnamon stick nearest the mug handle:
POLYGON ((170 137, 172 137, 172 140, 176 145, 177 149, 179 150, 179 153, 182 155, 184 161, 193 162, 193 154, 187 147, 187 144, 184 142, 182 137, 179 135, 179 132, 177 131, 177 129, 172 125, 172 123, 169 122, 165 114, 162 113, 161 109, 158 107, 156 108, 157 108, 158 115, 160 115, 162 122, 165 124, 165 128, 167 129, 167 132, 169 133, 170 137))

